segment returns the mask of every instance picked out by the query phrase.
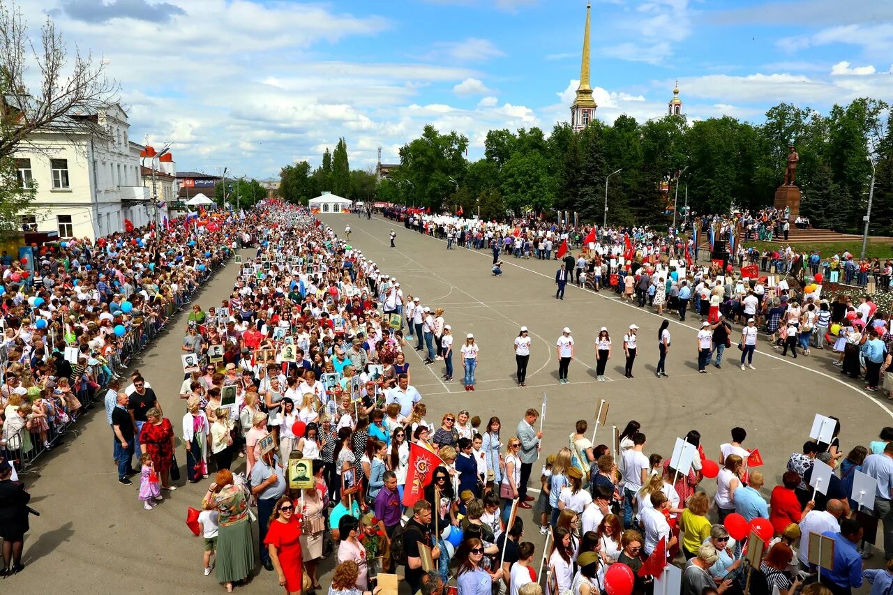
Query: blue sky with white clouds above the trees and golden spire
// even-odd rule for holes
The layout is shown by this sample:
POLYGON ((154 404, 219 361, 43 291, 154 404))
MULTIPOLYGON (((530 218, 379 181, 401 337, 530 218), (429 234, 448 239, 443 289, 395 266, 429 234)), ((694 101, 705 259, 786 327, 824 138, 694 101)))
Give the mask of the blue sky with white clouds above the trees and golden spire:
MULTIPOLYGON (((130 136, 178 169, 277 177, 345 137, 352 167, 394 162, 426 123, 472 140, 567 120, 585 0, 19 0, 104 55, 130 136)), ((34 29, 35 32, 37 29, 34 29)), ((893 97, 889 0, 605 0, 592 6, 597 116, 760 122, 780 101, 826 112, 893 97)))

